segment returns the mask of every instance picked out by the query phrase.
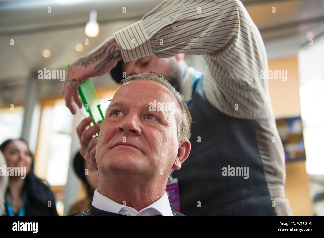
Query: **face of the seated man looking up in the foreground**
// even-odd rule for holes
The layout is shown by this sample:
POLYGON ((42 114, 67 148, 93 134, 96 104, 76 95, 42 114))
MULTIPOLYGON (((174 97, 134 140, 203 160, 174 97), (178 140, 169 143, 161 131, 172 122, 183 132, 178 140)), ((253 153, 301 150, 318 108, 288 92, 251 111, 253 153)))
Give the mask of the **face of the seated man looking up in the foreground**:
POLYGON ((176 113, 180 106, 164 86, 135 80, 114 95, 100 127, 96 149, 99 175, 168 176, 178 154, 176 113), (149 103, 175 102, 175 113, 149 111, 149 103))

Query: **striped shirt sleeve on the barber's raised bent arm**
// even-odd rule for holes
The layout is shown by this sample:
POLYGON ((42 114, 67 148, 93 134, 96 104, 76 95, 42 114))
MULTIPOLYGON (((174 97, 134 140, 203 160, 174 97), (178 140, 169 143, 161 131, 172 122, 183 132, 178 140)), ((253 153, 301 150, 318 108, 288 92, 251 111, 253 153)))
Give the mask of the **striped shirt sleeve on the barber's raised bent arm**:
POLYGON ((165 0, 114 33, 124 62, 149 54, 203 55, 204 92, 221 112, 242 119, 272 116, 267 55, 258 28, 238 0, 165 0))

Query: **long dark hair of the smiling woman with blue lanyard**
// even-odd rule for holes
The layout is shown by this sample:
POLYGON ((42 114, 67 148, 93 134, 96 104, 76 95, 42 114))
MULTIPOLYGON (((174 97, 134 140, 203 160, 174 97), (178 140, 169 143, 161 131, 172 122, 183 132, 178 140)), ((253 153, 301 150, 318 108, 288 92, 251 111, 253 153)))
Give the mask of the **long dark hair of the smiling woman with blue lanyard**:
MULTIPOLYGON (((28 142, 25 139, 19 138, 17 140, 25 142, 28 147, 28 150, 29 150, 28 142)), ((8 144, 13 141, 15 141, 15 140, 9 139, 9 140, 6 140, 5 142, 3 142, 0 145, 0 150, 2 152, 4 152, 6 147, 8 146, 8 144)), ((32 154, 31 154, 31 158, 32 158, 31 169, 30 169, 29 174, 26 175, 23 191, 27 193, 28 198, 33 203, 36 202, 42 207, 44 207, 45 205, 47 207, 48 202, 51 201, 52 203, 54 203, 54 204, 52 204, 52 207, 55 208, 55 200, 53 197, 53 193, 49 189, 48 183, 46 182, 46 180, 42 181, 40 178, 36 177, 36 175, 34 173, 34 157, 32 154)))

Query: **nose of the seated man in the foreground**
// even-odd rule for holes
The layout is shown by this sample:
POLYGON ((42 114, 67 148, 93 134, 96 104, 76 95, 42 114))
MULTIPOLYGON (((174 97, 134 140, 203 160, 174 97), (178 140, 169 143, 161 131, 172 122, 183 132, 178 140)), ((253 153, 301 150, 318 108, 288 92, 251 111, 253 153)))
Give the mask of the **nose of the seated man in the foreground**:
POLYGON ((139 136, 142 131, 140 128, 140 118, 137 113, 129 112, 117 127, 117 131, 130 133, 139 136))

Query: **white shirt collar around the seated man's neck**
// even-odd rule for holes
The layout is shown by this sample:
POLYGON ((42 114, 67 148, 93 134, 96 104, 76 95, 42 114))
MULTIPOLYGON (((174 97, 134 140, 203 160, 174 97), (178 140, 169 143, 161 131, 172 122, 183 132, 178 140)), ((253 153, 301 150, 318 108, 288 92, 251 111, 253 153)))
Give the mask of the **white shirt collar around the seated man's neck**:
POLYGON ((173 216, 171 210, 169 198, 167 192, 164 192, 164 195, 158 199, 156 202, 152 203, 150 206, 143 208, 140 211, 136 211, 132 207, 123 206, 110 198, 107 198, 99 193, 99 188, 95 190, 92 206, 103 211, 109 211, 122 215, 132 215, 132 216, 173 216))

